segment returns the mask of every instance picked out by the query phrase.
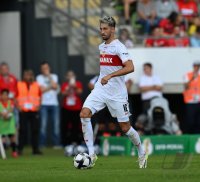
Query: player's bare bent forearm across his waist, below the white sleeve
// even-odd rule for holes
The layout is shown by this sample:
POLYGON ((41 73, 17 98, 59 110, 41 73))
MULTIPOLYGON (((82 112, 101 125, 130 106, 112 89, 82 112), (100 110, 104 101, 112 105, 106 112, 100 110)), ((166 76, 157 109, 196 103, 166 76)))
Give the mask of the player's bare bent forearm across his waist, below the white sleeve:
POLYGON ((117 77, 117 76, 123 76, 123 75, 131 73, 133 71, 134 71, 133 62, 132 62, 132 60, 128 60, 128 61, 124 62, 124 67, 122 69, 115 71, 115 72, 103 77, 101 79, 101 84, 105 85, 105 84, 108 83, 108 80, 110 80, 111 78, 117 77))

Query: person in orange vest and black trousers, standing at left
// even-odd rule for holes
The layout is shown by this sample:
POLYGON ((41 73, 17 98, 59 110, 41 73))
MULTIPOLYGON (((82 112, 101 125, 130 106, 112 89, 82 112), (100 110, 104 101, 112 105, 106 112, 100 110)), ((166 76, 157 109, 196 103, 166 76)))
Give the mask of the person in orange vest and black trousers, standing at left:
POLYGON ((19 154, 22 154, 26 142, 28 126, 31 131, 32 154, 40 155, 38 139, 40 131, 40 87, 35 81, 32 70, 25 70, 23 80, 17 84, 17 106, 19 109, 19 154))

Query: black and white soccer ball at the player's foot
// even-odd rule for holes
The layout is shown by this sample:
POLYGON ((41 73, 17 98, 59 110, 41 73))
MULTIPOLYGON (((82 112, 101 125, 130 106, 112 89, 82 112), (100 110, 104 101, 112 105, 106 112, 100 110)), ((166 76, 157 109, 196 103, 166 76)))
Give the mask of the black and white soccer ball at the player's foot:
POLYGON ((91 158, 86 153, 79 153, 74 157, 74 167, 77 169, 87 169, 91 165, 91 158))

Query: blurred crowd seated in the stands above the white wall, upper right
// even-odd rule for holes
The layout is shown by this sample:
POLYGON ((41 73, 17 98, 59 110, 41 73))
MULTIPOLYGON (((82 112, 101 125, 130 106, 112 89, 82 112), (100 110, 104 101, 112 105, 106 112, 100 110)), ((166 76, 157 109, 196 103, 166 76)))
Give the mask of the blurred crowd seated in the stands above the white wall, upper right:
POLYGON ((128 46, 132 47, 134 38, 142 35, 146 47, 200 47, 199 0, 115 2, 116 9, 123 5, 124 22, 133 29, 123 28, 126 30, 120 32, 126 36, 128 46))

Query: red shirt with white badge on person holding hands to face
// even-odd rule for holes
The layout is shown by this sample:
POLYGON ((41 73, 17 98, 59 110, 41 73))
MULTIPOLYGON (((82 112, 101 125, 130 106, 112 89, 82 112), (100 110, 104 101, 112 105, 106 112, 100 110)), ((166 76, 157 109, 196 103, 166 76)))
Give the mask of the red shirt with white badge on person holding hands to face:
MULTIPOLYGON (((61 92, 64 93, 66 88, 69 86, 68 82, 65 82, 61 86, 61 92)), ((76 81, 76 87, 70 89, 70 94, 63 99, 63 108, 71 111, 79 111, 82 108, 82 100, 79 95, 76 94, 75 89, 82 89, 82 83, 76 81)))

